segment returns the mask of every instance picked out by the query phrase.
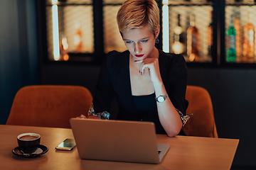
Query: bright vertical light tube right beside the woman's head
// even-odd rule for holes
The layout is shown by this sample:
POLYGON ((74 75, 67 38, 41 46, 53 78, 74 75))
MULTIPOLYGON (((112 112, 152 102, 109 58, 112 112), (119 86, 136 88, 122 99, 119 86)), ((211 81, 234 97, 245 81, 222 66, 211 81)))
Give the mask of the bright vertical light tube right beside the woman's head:
POLYGON ((163 51, 169 52, 169 6, 168 0, 163 0, 163 51))

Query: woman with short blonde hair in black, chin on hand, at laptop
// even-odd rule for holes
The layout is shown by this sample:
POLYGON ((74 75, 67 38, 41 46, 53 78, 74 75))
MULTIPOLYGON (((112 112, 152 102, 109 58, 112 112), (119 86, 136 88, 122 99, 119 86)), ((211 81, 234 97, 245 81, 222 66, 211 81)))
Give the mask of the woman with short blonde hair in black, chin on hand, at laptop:
POLYGON ((108 119, 115 97, 117 119, 151 121, 156 133, 178 135, 189 118, 185 114, 187 68, 182 55, 166 54, 154 46, 160 31, 156 1, 125 1, 117 13, 117 23, 128 50, 108 53, 90 118, 108 119))

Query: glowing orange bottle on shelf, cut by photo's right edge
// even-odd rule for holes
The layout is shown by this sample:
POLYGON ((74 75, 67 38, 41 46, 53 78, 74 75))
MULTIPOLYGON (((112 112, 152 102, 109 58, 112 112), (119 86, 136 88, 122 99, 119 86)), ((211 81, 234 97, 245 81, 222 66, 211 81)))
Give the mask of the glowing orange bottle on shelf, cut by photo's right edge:
POLYGON ((255 62, 255 26, 252 24, 252 13, 248 12, 248 23, 245 24, 242 45, 243 62, 255 62))

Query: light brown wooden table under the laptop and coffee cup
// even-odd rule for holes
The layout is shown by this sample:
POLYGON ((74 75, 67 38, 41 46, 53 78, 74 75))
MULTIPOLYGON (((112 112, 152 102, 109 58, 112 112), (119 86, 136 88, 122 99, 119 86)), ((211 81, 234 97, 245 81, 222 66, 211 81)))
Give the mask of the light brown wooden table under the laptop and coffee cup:
POLYGON ((170 145, 163 162, 138 164, 80 159, 76 148, 73 151, 55 151, 55 147, 69 137, 73 138, 70 129, 0 125, 0 169, 230 169, 239 142, 220 138, 157 135, 159 143, 170 145), (16 137, 23 132, 39 133, 41 145, 46 145, 48 152, 36 158, 12 154, 11 150, 18 145, 16 137))

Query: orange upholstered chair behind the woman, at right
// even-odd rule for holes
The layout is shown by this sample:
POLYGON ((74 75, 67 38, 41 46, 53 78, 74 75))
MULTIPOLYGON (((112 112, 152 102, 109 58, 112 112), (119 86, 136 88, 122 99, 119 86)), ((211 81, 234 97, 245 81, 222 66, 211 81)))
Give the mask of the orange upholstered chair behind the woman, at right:
POLYGON ((187 113, 193 113, 183 131, 188 136, 218 137, 210 94, 200 86, 187 86, 187 113))

